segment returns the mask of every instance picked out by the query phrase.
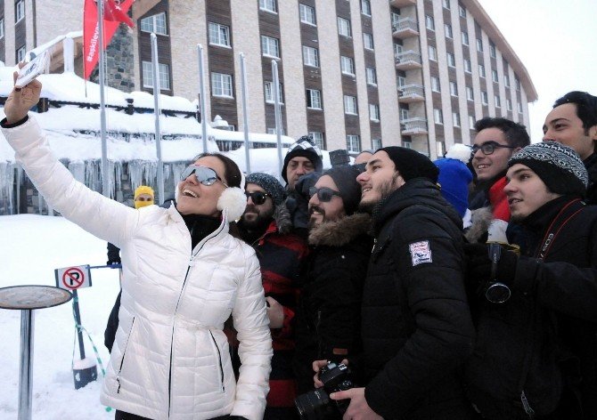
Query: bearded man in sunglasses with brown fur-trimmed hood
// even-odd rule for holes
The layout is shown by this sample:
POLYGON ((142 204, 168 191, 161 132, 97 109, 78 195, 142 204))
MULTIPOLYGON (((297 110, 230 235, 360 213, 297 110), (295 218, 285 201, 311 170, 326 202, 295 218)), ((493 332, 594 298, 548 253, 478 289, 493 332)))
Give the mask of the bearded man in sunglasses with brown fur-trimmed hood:
POLYGON ((309 254, 297 314, 299 393, 313 389, 315 359, 340 362, 358 353, 360 310, 371 253, 371 216, 356 212, 361 188, 354 166, 334 166, 309 194, 309 254))

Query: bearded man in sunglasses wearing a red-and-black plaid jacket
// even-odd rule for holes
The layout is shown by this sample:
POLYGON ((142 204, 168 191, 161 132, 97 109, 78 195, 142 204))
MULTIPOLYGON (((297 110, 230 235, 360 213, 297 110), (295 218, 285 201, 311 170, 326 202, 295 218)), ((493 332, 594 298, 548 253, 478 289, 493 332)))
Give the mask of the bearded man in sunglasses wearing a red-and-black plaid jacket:
POLYGON ((294 314, 301 263, 307 244, 290 233, 290 215, 283 206, 282 184, 268 174, 254 173, 245 187, 247 208, 238 223, 241 238, 255 248, 266 292, 274 357, 269 377, 265 419, 295 418, 296 383, 292 373, 294 314))

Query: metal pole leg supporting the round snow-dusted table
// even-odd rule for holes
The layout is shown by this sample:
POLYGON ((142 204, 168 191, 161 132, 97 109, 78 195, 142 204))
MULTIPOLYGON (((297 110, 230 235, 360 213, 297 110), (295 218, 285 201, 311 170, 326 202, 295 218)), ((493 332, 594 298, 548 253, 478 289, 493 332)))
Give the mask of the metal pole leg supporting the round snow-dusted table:
POLYGON ((33 311, 20 311, 20 370, 18 420, 31 420, 31 390, 33 388, 33 311))

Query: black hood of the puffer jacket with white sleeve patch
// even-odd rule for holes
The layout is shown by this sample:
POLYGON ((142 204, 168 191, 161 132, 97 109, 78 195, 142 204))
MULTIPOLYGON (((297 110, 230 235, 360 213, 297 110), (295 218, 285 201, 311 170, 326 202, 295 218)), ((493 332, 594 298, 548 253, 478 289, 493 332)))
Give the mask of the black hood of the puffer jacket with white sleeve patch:
POLYGON ((413 178, 402 187, 383 198, 373 208, 373 228, 377 235, 381 227, 405 208, 428 206, 446 214, 456 226, 462 229, 462 218, 439 192, 438 185, 425 178, 413 178))

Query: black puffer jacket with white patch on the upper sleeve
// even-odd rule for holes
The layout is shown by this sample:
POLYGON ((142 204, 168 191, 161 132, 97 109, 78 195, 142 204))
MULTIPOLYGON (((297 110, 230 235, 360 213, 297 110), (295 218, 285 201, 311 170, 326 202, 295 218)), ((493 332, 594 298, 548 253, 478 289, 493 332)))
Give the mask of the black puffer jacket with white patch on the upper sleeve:
POLYGON ((413 179, 376 207, 373 221, 362 311, 367 403, 386 419, 469 418, 459 369, 475 332, 462 220, 435 184, 413 179))

